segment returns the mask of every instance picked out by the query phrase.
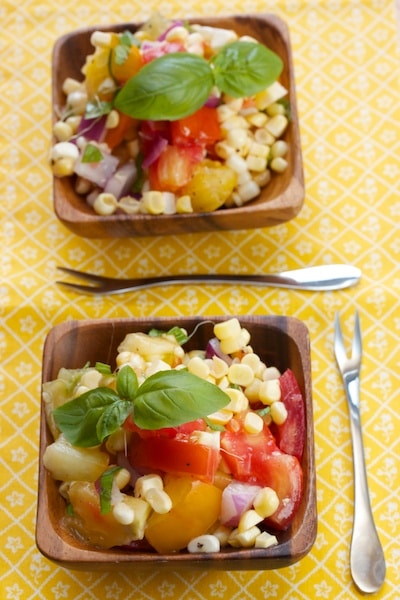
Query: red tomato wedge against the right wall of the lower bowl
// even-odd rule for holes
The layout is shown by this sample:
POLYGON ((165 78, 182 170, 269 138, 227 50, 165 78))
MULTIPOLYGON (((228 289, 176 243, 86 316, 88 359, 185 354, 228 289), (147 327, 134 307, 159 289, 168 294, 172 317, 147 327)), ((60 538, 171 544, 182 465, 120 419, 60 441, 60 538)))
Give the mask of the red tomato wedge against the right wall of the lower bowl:
POLYGON ((303 455, 306 435, 305 408, 303 396, 294 373, 287 369, 280 377, 282 402, 288 413, 282 425, 273 425, 272 432, 282 452, 296 456, 303 455))

